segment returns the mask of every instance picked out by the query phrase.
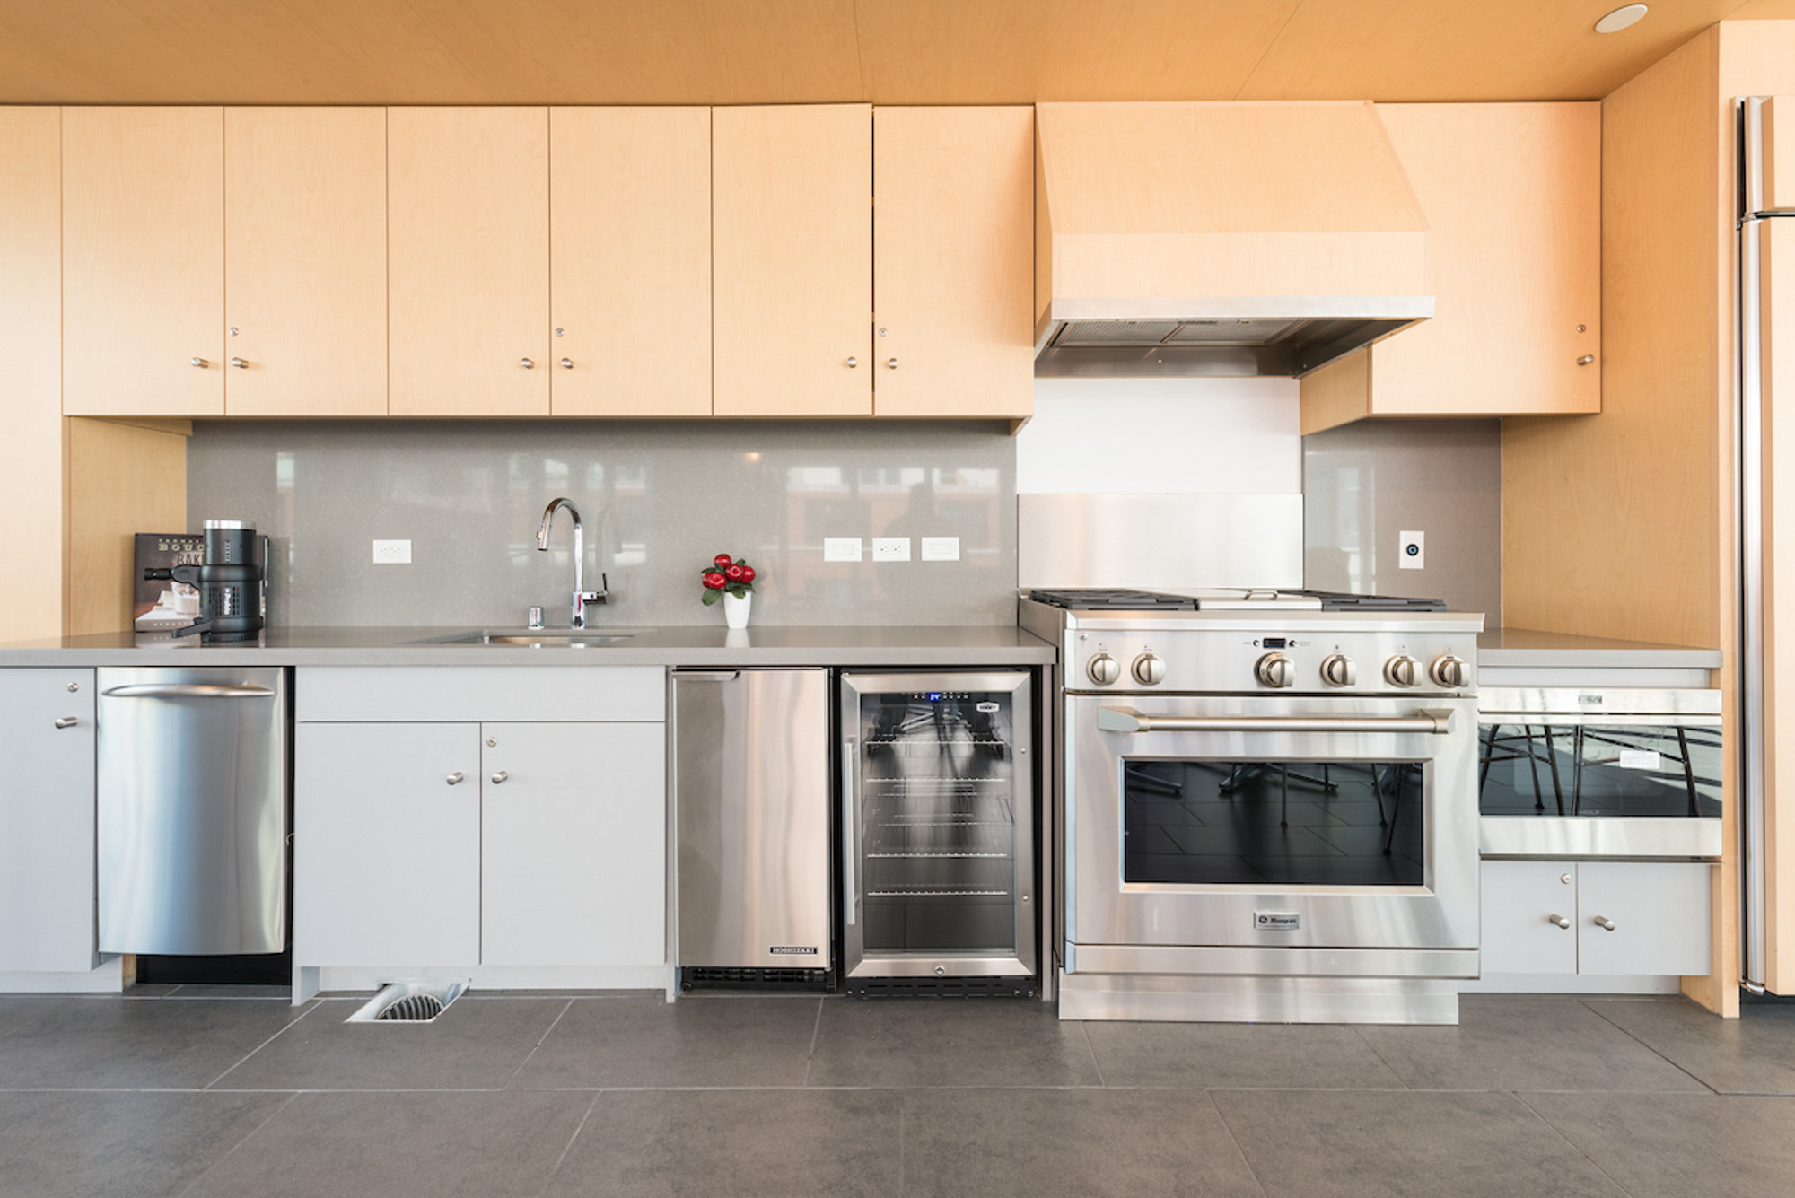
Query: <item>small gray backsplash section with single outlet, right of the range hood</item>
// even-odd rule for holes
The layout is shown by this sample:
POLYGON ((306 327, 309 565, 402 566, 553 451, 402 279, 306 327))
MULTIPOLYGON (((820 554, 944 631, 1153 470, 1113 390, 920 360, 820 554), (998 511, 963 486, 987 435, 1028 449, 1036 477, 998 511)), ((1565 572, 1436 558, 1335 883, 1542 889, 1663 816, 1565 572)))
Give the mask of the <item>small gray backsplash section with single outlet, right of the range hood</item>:
POLYGON ((1303 438, 1303 581, 1502 624, 1502 421, 1361 420, 1303 438), (1425 533, 1405 570, 1402 533, 1425 533))

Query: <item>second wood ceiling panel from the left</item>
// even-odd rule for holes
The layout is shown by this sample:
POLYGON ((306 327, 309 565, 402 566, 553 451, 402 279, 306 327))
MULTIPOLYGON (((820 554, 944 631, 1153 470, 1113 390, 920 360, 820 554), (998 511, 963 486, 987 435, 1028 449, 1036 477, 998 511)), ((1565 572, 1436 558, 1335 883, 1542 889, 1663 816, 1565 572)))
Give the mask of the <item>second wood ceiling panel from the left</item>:
POLYGON ((501 104, 860 100, 854 0, 411 0, 501 104))

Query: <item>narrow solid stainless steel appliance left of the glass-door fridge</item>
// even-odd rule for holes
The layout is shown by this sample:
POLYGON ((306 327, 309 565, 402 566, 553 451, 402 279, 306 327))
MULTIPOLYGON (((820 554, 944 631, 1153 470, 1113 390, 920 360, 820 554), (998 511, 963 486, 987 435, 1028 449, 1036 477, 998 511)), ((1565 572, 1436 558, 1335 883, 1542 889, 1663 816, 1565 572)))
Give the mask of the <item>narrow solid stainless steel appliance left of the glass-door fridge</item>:
POLYGON ((677 669, 682 990, 831 990, 829 671, 677 669))

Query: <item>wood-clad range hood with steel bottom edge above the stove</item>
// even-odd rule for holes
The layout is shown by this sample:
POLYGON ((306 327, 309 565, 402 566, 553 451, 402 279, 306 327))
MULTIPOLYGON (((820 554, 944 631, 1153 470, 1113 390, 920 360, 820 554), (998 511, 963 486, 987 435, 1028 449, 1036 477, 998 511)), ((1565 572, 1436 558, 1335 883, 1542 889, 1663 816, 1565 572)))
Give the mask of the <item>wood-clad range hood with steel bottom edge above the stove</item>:
POLYGON ((1036 377, 1305 375, 1434 314, 1370 102, 1036 104, 1036 377))

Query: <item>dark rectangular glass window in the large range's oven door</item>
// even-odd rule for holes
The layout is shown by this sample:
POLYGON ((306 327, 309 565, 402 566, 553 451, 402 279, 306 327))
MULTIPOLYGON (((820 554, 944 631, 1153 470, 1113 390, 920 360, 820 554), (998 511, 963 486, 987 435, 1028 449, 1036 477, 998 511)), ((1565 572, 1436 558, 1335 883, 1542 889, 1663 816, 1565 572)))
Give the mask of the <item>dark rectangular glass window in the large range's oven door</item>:
POLYGON ((1420 886, 1425 762, 1122 762, 1122 881, 1420 886))

